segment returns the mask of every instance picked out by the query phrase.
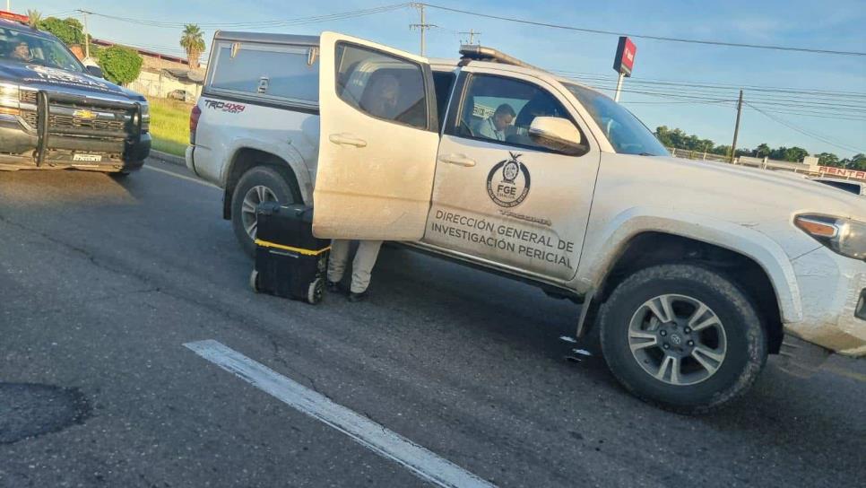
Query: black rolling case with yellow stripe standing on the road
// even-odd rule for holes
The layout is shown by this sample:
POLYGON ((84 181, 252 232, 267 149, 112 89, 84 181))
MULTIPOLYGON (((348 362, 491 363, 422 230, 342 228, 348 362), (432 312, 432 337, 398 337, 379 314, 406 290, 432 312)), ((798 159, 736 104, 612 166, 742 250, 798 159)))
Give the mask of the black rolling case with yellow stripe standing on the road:
POLYGON ((313 237, 313 209, 268 202, 255 210, 255 292, 318 303, 325 291, 331 240, 313 237))

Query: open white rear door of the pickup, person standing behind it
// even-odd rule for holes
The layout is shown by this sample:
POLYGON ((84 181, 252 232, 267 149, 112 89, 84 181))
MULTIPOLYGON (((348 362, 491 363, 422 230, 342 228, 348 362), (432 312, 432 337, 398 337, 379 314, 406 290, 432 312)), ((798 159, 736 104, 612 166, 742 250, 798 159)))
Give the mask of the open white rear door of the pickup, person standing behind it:
POLYGON ((420 240, 439 144, 428 60, 324 32, 316 237, 420 240))

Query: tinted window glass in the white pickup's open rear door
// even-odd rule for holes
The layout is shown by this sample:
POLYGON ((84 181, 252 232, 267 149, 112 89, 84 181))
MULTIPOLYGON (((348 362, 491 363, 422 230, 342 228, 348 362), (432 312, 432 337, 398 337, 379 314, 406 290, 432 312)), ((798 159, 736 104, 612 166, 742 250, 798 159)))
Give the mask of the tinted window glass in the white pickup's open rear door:
POLYGON ((428 127, 421 65, 340 43, 335 53, 337 96, 360 111, 406 126, 428 127))

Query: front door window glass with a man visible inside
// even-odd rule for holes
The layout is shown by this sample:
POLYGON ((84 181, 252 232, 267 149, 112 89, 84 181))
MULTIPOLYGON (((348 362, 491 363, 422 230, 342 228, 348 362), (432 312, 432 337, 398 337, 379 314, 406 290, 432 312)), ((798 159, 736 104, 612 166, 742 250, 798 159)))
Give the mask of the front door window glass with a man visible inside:
POLYGON ((485 74, 472 75, 469 83, 456 126, 448 127, 448 134, 550 151, 530 138, 533 120, 571 121, 559 100, 533 83, 485 74))

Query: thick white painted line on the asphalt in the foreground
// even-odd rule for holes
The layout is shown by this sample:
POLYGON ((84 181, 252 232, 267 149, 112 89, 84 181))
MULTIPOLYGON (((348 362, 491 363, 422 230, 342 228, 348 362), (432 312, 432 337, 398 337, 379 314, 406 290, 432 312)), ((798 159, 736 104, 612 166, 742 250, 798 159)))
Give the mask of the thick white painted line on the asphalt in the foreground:
POLYGON ((402 435, 337 405, 326 396, 292 381, 247 356, 214 341, 184 344, 188 349, 234 373, 255 388, 275 396, 286 405, 330 425, 362 446, 406 467, 431 484, 445 487, 494 487, 494 484, 466 471, 451 461, 438 457, 402 435))

